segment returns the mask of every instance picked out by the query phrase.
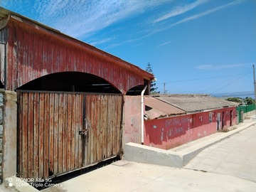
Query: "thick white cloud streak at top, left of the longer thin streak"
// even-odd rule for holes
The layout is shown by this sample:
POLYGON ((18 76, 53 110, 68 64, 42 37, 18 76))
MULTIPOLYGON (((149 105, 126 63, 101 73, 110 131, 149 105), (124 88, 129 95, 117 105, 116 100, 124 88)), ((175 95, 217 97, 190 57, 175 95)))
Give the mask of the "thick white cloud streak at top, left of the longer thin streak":
POLYGON ((184 6, 176 6, 168 14, 165 14, 164 16, 154 19, 154 21, 152 21, 152 23, 158 23, 158 22, 164 21, 168 18, 184 14, 187 11, 191 11, 192 9, 195 9, 197 6, 200 6, 201 4, 206 3, 207 1, 208 0, 198 0, 198 1, 193 2, 192 4, 187 4, 184 6))

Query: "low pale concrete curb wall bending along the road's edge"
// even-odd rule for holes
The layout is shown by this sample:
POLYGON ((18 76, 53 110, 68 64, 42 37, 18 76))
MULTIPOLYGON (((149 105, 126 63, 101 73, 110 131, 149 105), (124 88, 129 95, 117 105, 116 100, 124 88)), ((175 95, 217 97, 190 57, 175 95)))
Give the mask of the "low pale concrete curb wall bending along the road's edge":
POLYGON ((253 124, 256 124, 256 122, 248 122, 245 125, 241 125, 237 129, 233 129, 230 132, 226 132, 225 134, 221 134, 217 137, 214 137, 213 139, 189 146, 188 148, 177 152, 130 142, 124 144, 123 159, 126 161, 135 161, 144 164, 156 164, 161 166, 174 166, 181 168, 188 164, 188 162, 191 161, 191 159, 193 159, 193 157, 203 149, 223 141, 223 139, 226 139, 233 134, 237 134, 238 132, 247 129, 253 124))

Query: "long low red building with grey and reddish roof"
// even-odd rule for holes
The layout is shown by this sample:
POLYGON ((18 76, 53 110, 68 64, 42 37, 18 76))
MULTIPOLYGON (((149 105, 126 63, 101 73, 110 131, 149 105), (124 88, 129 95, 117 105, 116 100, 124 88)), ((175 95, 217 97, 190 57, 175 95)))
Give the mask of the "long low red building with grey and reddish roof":
POLYGON ((235 124, 235 105, 208 95, 145 97, 144 144, 171 149, 235 124), (157 105, 156 105, 157 104, 157 105))

